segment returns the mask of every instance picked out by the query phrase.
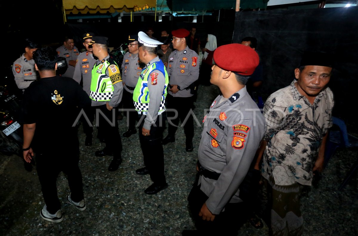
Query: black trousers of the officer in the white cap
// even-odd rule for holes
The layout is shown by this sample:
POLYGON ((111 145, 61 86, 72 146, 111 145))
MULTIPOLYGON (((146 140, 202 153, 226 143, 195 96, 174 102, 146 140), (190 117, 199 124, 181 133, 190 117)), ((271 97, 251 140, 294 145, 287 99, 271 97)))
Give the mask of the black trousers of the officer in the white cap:
POLYGON ((142 134, 146 115, 139 115, 139 141, 143 152, 144 165, 149 169, 151 180, 158 185, 166 183, 164 175, 164 153, 161 139, 163 127, 159 127, 162 115, 158 115, 155 126, 150 127, 150 136, 142 134))

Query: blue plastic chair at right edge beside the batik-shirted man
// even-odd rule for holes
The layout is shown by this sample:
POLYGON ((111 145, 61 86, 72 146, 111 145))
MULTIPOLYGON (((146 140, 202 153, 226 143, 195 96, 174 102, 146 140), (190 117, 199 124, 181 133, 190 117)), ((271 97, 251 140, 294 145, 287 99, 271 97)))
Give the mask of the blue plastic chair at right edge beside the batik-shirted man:
MULTIPOLYGON (((358 138, 348 134, 347 126, 345 125, 345 122, 338 117, 332 117, 332 121, 333 121, 333 125, 339 127, 339 130, 338 131, 331 130, 329 132, 329 137, 327 139, 325 155, 324 155, 324 167, 326 167, 326 165, 334 155, 334 152, 336 151, 337 148, 358 147, 358 138)), ((347 176, 343 180, 343 183, 338 188, 339 191, 341 191, 348 184, 348 182, 352 179, 357 169, 358 169, 358 159, 353 164, 352 168, 349 170, 347 176)))

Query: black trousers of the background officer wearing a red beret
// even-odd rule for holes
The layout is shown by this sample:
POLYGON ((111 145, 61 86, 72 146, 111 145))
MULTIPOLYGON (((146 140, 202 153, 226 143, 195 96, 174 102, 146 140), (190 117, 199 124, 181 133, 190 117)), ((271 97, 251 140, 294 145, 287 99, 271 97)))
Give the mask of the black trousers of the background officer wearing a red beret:
POLYGON ((168 135, 174 136, 176 130, 178 129, 179 120, 184 124, 184 133, 188 141, 192 141, 194 137, 194 122, 193 116, 189 115, 190 109, 193 109, 194 97, 181 98, 173 97, 172 95, 166 95, 166 108, 175 109, 178 112, 178 117, 175 117, 175 112, 168 111, 166 112, 166 117, 168 119, 168 135), (185 121, 185 118, 188 119, 185 121), (170 124, 170 122, 173 124, 170 124), (184 123, 185 122, 185 123, 184 123))

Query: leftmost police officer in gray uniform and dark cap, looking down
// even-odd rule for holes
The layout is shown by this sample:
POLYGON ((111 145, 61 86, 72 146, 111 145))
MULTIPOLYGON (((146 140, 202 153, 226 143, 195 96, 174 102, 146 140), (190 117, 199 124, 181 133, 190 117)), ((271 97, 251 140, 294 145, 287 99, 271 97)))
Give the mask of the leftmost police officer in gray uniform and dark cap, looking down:
POLYGON ((38 79, 38 74, 35 70, 35 61, 32 59, 32 54, 37 50, 39 44, 25 39, 24 42, 25 53, 20 58, 16 59, 13 64, 13 74, 15 83, 19 89, 24 92, 32 82, 38 79))

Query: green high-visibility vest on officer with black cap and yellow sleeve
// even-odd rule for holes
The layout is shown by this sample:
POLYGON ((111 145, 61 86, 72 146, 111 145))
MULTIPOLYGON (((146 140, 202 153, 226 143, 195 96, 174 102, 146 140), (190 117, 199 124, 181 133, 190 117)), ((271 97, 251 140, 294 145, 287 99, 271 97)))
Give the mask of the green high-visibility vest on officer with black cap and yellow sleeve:
MULTIPOLYGON (((114 60, 108 58, 107 60, 102 60, 99 65, 93 65, 92 68, 92 79, 91 79, 91 93, 89 97, 95 101, 110 101, 114 92, 113 88, 113 79, 111 80, 110 77, 106 75, 106 69, 108 66, 115 64, 117 66, 115 73, 120 73, 118 69, 118 65, 114 60)), ((108 68, 111 70, 111 68, 108 68)), ((109 71, 113 73, 113 70, 109 71)), ((119 79, 120 74, 119 74, 119 79)), ((116 80, 118 82, 118 79, 116 80)))

